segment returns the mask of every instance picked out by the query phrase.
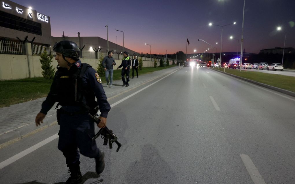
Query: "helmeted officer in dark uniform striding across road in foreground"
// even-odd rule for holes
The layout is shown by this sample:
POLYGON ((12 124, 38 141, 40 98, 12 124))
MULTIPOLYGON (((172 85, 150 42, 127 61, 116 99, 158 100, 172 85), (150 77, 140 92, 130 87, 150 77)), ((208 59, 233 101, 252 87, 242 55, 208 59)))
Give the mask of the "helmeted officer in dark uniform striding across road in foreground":
POLYGON ((106 126, 106 117, 111 107, 106 100, 100 76, 89 64, 79 60, 80 49, 76 43, 61 41, 54 45, 53 50, 58 62, 57 72, 35 122, 36 126, 40 125, 55 102, 61 105, 57 111, 60 125, 58 149, 63 152, 71 173, 65 183, 80 183, 82 175, 77 148, 82 155, 95 159, 97 174, 102 173, 105 166, 104 152, 91 139, 95 134, 94 120, 88 114, 93 113, 99 105, 101 121, 97 126, 102 128, 106 126))

